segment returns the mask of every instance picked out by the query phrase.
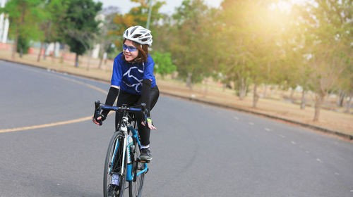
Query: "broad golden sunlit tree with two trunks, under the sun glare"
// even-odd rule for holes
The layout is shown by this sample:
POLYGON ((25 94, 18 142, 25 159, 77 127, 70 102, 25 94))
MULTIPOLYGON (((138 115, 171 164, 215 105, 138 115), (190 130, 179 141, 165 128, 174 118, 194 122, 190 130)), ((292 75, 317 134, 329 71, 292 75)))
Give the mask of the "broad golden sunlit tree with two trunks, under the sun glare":
POLYGON ((286 16, 271 8, 275 1, 225 0, 221 6, 219 30, 222 39, 217 48, 222 51, 220 72, 237 84, 240 98, 244 98, 253 82, 253 107, 258 101, 257 87, 262 83, 277 82, 285 52, 282 35, 286 16))

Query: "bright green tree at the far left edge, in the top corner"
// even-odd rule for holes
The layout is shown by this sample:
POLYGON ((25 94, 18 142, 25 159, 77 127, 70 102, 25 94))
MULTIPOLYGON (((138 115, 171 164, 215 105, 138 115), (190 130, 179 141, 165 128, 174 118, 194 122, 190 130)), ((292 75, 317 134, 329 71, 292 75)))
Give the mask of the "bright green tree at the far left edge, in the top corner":
POLYGON ((25 46, 25 42, 40 36, 38 22, 42 18, 43 3, 44 1, 41 0, 11 0, 0 9, 0 12, 8 14, 9 34, 15 39, 11 55, 13 59, 16 51, 21 51, 17 49, 17 46, 25 46), (18 44, 19 38, 22 44, 18 44))

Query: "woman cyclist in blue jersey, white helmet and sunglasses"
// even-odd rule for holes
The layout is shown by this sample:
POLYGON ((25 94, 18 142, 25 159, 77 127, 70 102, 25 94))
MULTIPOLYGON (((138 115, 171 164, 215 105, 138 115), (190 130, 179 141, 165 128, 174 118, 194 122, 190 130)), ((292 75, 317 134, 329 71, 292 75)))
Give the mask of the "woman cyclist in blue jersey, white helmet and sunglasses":
MULTIPOLYGON (((123 52, 114 59, 111 86, 105 101, 105 105, 113 106, 116 98, 116 106, 123 104, 133 106, 145 103, 148 109, 147 124, 142 121, 142 115, 136 113, 138 121, 138 133, 140 134, 141 153, 140 160, 152 160, 150 153, 150 129, 157 129, 152 125, 150 110, 157 103, 160 91, 157 87, 153 68, 155 63, 148 46, 152 45, 150 30, 141 26, 128 27, 124 31, 123 52)), ((107 118, 108 111, 102 113, 93 122, 102 125, 107 118)), ((121 114, 116 113, 115 127, 118 127, 121 114)))

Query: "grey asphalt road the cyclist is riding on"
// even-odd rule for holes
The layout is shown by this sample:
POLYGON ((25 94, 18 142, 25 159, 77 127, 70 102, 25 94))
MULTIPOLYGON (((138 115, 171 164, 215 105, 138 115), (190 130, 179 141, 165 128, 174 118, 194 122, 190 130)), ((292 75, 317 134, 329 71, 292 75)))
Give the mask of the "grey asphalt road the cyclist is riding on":
MULTIPOLYGON (((114 118, 87 117, 108 89, 0 61, 0 196, 102 196, 114 118)), ((152 120, 143 196, 353 196, 349 141, 167 96, 152 120)))

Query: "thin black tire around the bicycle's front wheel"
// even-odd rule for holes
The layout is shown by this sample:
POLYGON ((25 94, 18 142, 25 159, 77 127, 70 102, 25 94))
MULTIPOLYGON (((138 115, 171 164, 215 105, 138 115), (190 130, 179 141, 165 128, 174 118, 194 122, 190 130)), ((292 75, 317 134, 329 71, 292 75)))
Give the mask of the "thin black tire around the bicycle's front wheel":
POLYGON ((122 158, 122 147, 124 146, 124 135, 121 132, 115 132, 112 139, 109 142, 107 149, 107 155, 104 163, 104 177, 103 177, 103 196, 104 197, 123 197, 126 183, 126 160, 124 162, 124 174, 119 176, 119 191, 109 195, 109 186, 112 184, 112 173, 120 172, 121 170, 121 158, 122 158), (116 143, 117 142, 117 143, 116 143), (117 148, 115 146, 118 146, 117 148), (112 162, 114 157, 114 164, 112 162), (109 195, 109 196, 108 196, 109 195))

